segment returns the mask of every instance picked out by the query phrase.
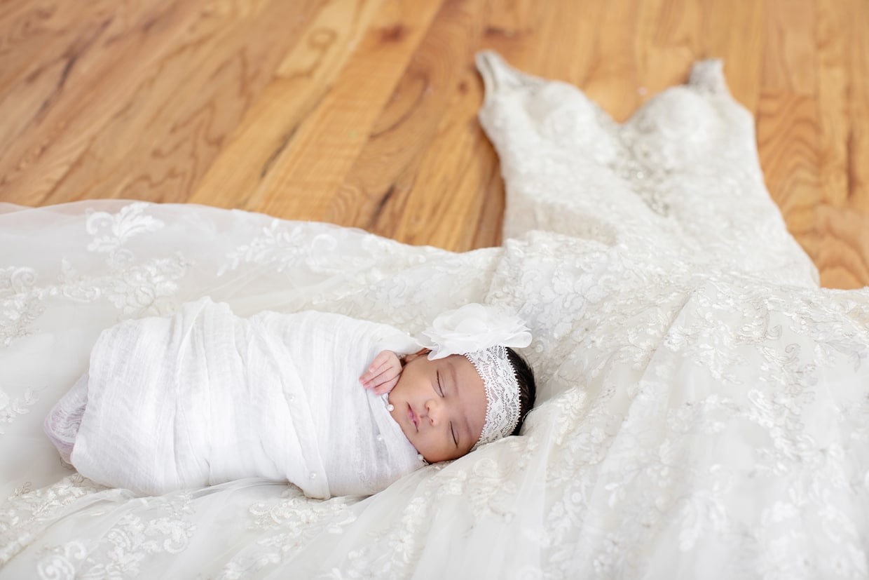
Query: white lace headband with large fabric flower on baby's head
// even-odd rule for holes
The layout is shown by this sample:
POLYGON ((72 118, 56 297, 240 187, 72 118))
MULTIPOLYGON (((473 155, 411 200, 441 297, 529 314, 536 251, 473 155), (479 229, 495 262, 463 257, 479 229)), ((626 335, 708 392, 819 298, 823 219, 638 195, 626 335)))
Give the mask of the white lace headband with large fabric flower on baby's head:
POLYGON ((464 355, 474 364, 486 389, 486 421, 471 450, 507 437, 519 423, 520 397, 516 371, 506 347, 525 347, 531 333, 519 317, 492 306, 471 303, 444 312, 423 331, 430 360, 464 355))

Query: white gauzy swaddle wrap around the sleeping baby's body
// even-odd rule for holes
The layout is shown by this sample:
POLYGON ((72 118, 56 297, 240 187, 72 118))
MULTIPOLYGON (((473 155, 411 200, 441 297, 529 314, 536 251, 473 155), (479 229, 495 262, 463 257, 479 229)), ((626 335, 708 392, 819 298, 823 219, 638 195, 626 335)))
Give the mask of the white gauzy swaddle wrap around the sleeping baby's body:
POLYGON ((386 324, 241 318, 209 298, 120 323, 91 352, 71 461, 145 494, 242 477, 286 479, 309 497, 375 493, 422 463, 358 377, 381 350, 417 348, 386 324))

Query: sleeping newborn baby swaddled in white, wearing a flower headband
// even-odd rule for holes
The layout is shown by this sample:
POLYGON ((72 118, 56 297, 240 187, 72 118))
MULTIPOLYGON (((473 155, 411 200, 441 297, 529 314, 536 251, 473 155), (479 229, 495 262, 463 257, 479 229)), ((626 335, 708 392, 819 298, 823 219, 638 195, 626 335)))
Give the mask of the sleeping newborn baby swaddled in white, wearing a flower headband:
POLYGON ((202 298, 104 330, 45 430, 83 476, 140 494, 265 477, 370 495, 517 434, 534 405, 509 348, 531 341, 518 318, 467 304, 423 337, 313 310, 237 317, 202 298))

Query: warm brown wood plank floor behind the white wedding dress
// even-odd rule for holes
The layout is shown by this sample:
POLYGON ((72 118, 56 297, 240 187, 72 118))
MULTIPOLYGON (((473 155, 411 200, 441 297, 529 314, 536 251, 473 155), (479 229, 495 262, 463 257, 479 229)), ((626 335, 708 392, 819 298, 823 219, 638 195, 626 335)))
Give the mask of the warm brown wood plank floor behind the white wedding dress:
POLYGON ((822 282, 869 284, 867 0, 0 0, 0 201, 207 203, 496 244, 483 48, 618 120, 723 57, 822 282))

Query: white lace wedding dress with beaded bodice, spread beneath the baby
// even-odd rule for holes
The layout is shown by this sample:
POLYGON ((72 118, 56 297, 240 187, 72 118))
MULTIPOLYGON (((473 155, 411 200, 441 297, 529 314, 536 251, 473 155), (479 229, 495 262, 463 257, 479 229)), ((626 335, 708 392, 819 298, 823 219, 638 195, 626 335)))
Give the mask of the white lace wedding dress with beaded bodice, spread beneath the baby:
MULTIPOLYGON (((124 202, 0 215, 0 577, 869 576, 869 292, 817 287, 720 63, 613 123, 486 53, 505 243, 124 202), (134 499, 69 470, 42 417, 100 331, 210 294, 418 334, 516 310, 522 437, 359 501, 242 480, 134 499)), ((738 65, 738 63, 734 63, 738 65)))

